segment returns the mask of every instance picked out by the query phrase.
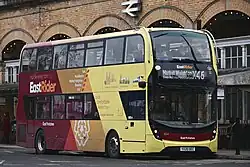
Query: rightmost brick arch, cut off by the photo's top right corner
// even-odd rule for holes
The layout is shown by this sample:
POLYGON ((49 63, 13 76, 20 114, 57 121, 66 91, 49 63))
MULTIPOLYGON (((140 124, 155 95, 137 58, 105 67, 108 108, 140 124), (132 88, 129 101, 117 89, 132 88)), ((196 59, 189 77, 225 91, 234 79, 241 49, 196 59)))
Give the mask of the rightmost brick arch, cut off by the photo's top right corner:
POLYGON ((197 20, 201 20, 201 27, 204 27, 204 25, 210 19, 212 19, 213 16, 227 10, 239 11, 250 16, 250 2, 246 0, 227 1, 227 2, 225 0, 214 0, 207 7, 203 9, 203 11, 196 18, 195 23, 197 22, 197 20))

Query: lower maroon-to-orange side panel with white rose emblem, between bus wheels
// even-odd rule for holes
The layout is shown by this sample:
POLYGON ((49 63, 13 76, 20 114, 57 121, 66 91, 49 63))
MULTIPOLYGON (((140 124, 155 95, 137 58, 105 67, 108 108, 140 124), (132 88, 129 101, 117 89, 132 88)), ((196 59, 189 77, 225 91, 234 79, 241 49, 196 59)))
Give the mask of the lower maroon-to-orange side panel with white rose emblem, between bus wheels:
POLYGON ((100 120, 36 121, 44 130, 47 149, 103 152, 105 134, 100 120))

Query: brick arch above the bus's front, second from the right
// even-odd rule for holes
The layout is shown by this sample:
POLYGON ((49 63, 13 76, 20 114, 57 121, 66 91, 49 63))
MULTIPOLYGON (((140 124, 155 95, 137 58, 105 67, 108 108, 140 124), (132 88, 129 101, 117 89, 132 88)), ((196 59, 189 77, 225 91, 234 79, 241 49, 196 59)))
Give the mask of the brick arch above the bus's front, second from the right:
POLYGON ((173 20, 185 28, 193 28, 192 19, 184 11, 174 6, 161 6, 149 11, 140 19, 138 25, 148 27, 153 22, 162 19, 173 20))

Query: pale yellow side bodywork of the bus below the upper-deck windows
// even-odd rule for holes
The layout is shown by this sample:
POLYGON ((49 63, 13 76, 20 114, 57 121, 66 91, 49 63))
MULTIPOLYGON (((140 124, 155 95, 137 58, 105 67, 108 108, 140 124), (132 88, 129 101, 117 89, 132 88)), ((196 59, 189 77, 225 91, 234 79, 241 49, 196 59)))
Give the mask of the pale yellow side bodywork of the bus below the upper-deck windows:
POLYGON ((103 71, 89 69, 89 79, 105 132, 113 129, 118 133, 121 153, 144 152, 146 111, 137 108, 136 113, 127 108, 141 102, 141 95, 146 92, 138 86, 139 80, 145 79, 144 63, 107 66, 103 71), (104 75, 96 77, 100 72, 104 75))

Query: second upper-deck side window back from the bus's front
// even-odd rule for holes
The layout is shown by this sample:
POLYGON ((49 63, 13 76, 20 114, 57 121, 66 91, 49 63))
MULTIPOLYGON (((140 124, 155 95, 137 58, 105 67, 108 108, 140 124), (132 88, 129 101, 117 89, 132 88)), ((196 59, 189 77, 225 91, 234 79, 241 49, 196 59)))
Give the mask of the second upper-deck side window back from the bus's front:
POLYGON ((104 64, 121 64, 123 57, 124 38, 106 40, 104 64))

